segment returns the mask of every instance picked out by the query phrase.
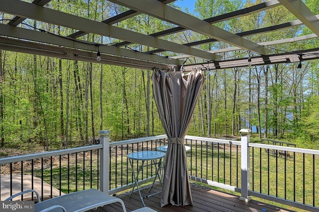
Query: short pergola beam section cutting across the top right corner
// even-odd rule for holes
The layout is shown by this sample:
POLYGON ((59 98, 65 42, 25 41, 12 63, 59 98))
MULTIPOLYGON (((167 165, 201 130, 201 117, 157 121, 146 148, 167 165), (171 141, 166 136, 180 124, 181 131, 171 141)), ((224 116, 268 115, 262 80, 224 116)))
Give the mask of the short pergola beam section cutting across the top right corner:
POLYGON ((313 33, 319 36, 319 19, 302 0, 278 0, 313 33))

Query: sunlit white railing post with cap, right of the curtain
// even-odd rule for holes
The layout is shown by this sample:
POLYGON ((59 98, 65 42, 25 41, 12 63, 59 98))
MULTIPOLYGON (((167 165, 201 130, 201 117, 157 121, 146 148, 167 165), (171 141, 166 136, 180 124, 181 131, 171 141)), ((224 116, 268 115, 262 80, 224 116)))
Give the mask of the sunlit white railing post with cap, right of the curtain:
POLYGON ((248 190, 250 187, 250 151, 248 143, 250 141, 250 129, 239 130, 241 135, 241 197, 242 201, 249 202, 251 197, 248 196, 248 190))

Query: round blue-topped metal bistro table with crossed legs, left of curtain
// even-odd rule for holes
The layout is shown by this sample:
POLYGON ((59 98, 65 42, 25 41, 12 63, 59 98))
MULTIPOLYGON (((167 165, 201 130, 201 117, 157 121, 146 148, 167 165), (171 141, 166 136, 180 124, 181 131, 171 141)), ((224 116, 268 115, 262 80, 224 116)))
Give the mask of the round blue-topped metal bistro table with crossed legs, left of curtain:
POLYGON ((144 198, 148 198, 148 197, 151 197, 153 195, 160 194, 160 192, 157 192, 157 193, 154 193, 154 194, 150 194, 150 195, 148 195, 146 197, 142 197, 142 194, 141 194, 141 191, 140 191, 140 187, 139 187, 139 184, 138 184, 139 174, 144 168, 145 161, 152 161, 152 164, 155 164, 155 169, 156 169, 155 173, 156 174, 155 174, 155 178, 154 178, 152 187, 150 188, 150 191, 152 190, 157 177, 160 180, 160 185, 162 185, 159 171, 160 171, 162 159, 165 157, 165 155, 166 155, 165 153, 160 152, 160 151, 140 151, 140 152, 132 152, 132 153, 127 155, 127 157, 129 158, 130 164, 131 164, 131 169, 132 169, 132 173, 133 173, 133 177, 134 177, 134 181, 135 181, 133 189, 131 191, 130 198, 132 197, 132 194, 133 194, 135 186, 136 186, 144 207, 146 207, 145 204, 144 204, 144 201, 143 201, 144 198), (134 160, 142 161, 142 164, 139 167, 137 174, 135 174, 135 171, 134 171, 134 168, 133 168, 133 161, 134 160))

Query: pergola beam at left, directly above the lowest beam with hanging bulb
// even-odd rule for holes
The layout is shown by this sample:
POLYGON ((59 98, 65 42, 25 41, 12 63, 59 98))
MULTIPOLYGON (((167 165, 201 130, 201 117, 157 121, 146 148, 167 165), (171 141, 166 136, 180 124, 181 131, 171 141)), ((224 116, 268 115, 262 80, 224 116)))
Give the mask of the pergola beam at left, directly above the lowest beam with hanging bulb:
MULTIPOLYGON (((16 26, 9 26, 6 24, 0 24, 0 32, 2 35, 8 37, 15 37, 20 39, 32 40, 40 43, 48 43, 53 45, 60 45, 75 49, 83 49, 86 51, 98 51, 98 47, 93 42, 83 41, 72 39, 63 36, 57 36, 50 33, 39 32, 30 29, 24 29, 16 26)), ((154 55, 154 54, 145 54, 142 52, 136 52, 129 49, 119 48, 112 45, 101 45, 99 47, 101 53, 109 55, 117 55, 121 57, 136 58, 140 60, 153 61, 158 63, 165 63, 170 65, 182 65, 184 61, 176 59, 167 59, 166 57, 154 55)))

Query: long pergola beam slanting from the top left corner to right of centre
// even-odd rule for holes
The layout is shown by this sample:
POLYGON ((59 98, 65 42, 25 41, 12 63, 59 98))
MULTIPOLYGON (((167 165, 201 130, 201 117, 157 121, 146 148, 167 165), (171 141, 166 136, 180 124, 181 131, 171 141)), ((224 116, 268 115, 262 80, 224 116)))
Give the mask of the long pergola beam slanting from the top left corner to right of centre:
POLYGON ((89 20, 83 17, 67 14, 20 0, 0 0, 0 11, 103 36, 113 37, 121 40, 128 40, 142 45, 162 48, 167 51, 188 54, 206 60, 215 60, 221 58, 221 56, 219 55, 211 54, 199 49, 176 44, 149 35, 144 35, 127 29, 119 28, 94 20, 89 20))

